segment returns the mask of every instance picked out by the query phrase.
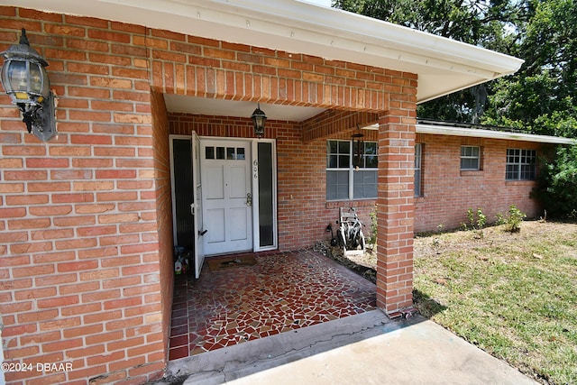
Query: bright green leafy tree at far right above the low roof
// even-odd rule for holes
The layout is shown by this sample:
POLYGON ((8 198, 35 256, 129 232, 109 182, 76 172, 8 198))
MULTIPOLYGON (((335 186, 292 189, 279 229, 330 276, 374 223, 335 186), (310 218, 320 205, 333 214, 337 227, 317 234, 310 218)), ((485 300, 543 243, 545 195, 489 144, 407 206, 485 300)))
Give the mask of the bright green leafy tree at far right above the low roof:
POLYGON ((493 83, 491 107, 483 121, 514 125, 529 133, 575 137, 575 4, 573 0, 534 0, 530 7, 531 17, 514 51, 526 61, 515 76, 493 83))

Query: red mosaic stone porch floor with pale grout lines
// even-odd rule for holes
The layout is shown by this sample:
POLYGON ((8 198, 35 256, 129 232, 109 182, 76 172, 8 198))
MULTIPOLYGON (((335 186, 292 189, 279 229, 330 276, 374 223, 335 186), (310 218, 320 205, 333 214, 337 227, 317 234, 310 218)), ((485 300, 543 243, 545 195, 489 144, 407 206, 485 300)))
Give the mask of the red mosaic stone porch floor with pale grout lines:
POLYGON ((198 280, 177 277, 170 361, 376 308, 371 281, 314 249, 233 258, 208 260, 198 280))

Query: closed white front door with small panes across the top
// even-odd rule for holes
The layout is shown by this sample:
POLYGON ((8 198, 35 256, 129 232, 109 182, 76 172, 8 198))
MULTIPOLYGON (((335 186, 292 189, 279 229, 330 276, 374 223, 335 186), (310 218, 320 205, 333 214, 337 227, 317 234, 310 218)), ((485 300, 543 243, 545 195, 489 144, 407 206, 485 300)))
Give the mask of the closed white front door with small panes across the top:
POLYGON ((251 142, 200 142, 206 255, 252 251, 251 142))

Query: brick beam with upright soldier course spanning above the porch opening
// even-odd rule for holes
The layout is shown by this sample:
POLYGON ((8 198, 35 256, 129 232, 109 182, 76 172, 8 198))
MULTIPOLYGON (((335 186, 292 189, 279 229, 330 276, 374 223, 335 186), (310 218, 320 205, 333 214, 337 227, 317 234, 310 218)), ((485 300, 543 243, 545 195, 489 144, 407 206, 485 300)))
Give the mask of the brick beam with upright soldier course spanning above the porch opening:
MULTIPOLYGON (((158 34, 147 32, 135 44, 150 49, 158 34)), ((163 93, 376 112, 388 108, 389 93, 403 91, 404 74, 387 69, 178 33, 168 37, 152 52, 153 83, 163 93)))

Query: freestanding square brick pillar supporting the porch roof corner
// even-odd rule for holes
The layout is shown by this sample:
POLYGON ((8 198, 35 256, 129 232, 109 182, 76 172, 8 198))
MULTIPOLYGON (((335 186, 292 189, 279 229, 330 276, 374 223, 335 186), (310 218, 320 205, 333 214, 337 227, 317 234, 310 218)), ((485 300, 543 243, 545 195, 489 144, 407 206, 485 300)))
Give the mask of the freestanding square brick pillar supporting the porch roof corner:
POLYGON ((416 120, 392 111, 379 120, 377 306, 391 315, 413 304, 416 120))

